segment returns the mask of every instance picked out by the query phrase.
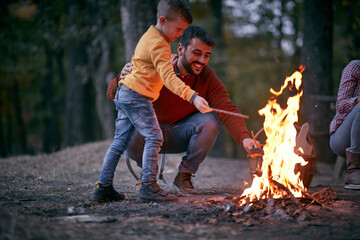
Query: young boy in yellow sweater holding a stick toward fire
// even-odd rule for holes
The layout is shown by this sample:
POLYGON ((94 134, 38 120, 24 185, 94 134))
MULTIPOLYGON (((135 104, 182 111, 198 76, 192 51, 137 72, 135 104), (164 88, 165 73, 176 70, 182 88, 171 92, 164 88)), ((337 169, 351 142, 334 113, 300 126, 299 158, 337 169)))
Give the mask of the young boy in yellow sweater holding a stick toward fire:
POLYGON ((152 106, 163 85, 193 103, 202 113, 209 112, 207 101, 198 96, 175 74, 171 64, 170 42, 178 39, 192 23, 192 13, 186 0, 160 0, 156 26, 150 26, 139 40, 132 59, 132 72, 119 82, 114 103, 118 111, 114 141, 109 147, 93 200, 120 201, 124 194, 112 185, 121 154, 136 128, 145 138, 142 169, 142 201, 174 201, 176 195, 161 189, 156 183, 157 159, 163 136, 152 106))

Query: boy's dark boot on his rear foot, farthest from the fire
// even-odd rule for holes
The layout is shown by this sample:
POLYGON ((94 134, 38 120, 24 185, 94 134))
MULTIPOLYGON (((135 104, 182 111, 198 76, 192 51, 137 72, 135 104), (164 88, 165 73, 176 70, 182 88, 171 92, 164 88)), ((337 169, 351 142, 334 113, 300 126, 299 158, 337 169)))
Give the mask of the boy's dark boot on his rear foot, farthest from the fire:
POLYGON ((125 199, 123 193, 117 192, 113 185, 103 186, 100 183, 96 183, 96 189, 93 195, 92 200, 94 202, 103 203, 103 202, 112 202, 112 201, 121 201, 125 199))

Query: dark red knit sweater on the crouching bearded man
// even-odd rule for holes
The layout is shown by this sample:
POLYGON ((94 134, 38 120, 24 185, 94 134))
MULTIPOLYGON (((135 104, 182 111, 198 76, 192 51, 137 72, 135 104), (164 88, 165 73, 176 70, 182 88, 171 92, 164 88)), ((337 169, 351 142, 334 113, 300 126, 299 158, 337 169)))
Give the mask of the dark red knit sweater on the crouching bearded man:
MULTIPOLYGON (((210 107, 240 113, 230 100, 224 84, 211 67, 206 66, 198 76, 179 77, 186 85, 195 90, 199 96, 205 98, 210 107)), ((160 123, 172 124, 198 111, 193 104, 173 94, 166 87, 161 89, 160 97, 153 105, 160 123)), ((237 143, 242 145, 242 141, 250 137, 243 118, 222 113, 216 114, 237 143)))

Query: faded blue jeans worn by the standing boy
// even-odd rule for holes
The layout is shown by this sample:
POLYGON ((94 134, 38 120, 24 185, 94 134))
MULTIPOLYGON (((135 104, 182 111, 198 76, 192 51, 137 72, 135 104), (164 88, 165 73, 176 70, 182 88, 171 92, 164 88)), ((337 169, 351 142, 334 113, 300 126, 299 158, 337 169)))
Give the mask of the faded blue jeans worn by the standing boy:
POLYGON ((105 186, 112 184, 121 154, 126 150, 135 129, 145 139, 142 181, 155 182, 163 136, 151 100, 132 90, 121 90, 120 86, 114 103, 118 111, 115 136, 105 155, 99 183, 105 186))

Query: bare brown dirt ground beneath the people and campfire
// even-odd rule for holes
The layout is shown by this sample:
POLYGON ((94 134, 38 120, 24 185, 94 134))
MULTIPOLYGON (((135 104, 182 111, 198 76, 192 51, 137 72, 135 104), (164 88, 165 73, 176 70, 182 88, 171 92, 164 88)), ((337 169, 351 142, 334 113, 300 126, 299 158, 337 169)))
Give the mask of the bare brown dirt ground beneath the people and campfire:
MULTIPOLYGON (((336 192, 322 206, 294 207, 285 199, 270 208, 269 201, 264 209, 240 208, 234 199, 250 180, 248 160, 212 157, 194 178, 200 194, 166 204, 137 199, 136 181, 122 157, 114 186, 126 200, 92 203, 109 144, 0 159, 0 239, 360 239, 360 191, 345 190, 343 178, 333 178, 333 166, 319 162, 309 193, 336 192)), ((169 183, 180 159, 167 155, 169 183)))

